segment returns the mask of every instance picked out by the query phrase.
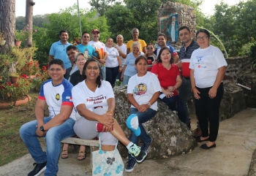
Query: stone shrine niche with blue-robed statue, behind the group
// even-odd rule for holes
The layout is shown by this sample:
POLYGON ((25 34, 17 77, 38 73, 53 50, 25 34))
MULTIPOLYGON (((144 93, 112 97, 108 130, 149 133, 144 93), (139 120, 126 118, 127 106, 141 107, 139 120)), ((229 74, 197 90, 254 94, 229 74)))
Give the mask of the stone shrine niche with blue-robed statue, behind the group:
POLYGON ((167 45, 181 46, 178 39, 178 28, 188 26, 195 37, 195 10, 178 2, 167 1, 157 10, 157 27, 159 33, 167 37, 167 45))

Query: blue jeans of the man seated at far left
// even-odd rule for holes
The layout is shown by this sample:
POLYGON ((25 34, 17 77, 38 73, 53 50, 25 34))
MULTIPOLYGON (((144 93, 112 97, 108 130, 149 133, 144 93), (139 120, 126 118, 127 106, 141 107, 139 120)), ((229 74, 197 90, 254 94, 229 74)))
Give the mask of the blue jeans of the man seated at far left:
MULTIPOLYGON (((51 118, 44 118, 44 123, 48 123, 51 118)), ((37 164, 47 161, 45 175, 56 175, 59 167, 59 154, 61 153, 61 140, 75 135, 73 126, 75 120, 68 118, 64 123, 59 126, 50 128, 46 135, 45 140, 47 144, 47 153, 42 151, 42 148, 37 139, 37 120, 25 123, 20 127, 20 137, 23 139, 26 147, 29 150, 32 158, 37 164)))

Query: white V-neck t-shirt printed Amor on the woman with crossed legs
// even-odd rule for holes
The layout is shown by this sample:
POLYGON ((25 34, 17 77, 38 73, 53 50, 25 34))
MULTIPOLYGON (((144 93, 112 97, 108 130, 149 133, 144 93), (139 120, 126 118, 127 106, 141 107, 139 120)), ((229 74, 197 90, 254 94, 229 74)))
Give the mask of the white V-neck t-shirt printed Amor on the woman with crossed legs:
POLYGON ((107 100, 110 98, 115 98, 115 96, 110 83, 105 80, 102 80, 102 85, 95 92, 87 87, 85 81, 72 88, 72 99, 75 107, 79 104, 86 104, 86 108, 91 111, 94 110, 94 107, 108 110, 107 100))

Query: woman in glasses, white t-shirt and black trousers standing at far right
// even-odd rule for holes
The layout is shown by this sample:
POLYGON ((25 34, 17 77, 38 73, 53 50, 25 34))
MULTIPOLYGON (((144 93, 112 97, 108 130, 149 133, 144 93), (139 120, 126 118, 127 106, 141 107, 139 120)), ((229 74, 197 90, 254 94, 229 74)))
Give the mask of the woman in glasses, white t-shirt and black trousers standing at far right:
POLYGON ((215 148, 219 131, 219 105, 224 93, 222 80, 227 62, 218 47, 210 45, 210 34, 200 29, 196 34, 200 48, 192 53, 189 69, 192 92, 195 96, 195 112, 202 130, 197 142, 208 141, 202 149, 215 148), (209 131, 208 131, 209 123, 209 131))

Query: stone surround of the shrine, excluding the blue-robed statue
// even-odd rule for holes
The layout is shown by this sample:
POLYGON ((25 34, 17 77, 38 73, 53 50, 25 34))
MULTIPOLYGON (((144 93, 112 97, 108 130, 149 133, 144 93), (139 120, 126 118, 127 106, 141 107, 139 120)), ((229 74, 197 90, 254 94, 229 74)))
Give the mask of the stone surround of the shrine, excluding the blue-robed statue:
MULTIPOLYGON (((188 26, 192 31, 193 36, 195 36, 195 9, 178 2, 167 1, 162 4, 157 10, 157 27, 159 28, 159 33, 165 34, 167 36, 167 43, 170 44, 170 34, 168 28, 172 21, 171 15, 178 15, 178 28, 181 26, 188 26)), ((181 46, 181 41, 178 39, 176 43, 177 46, 181 46)))

